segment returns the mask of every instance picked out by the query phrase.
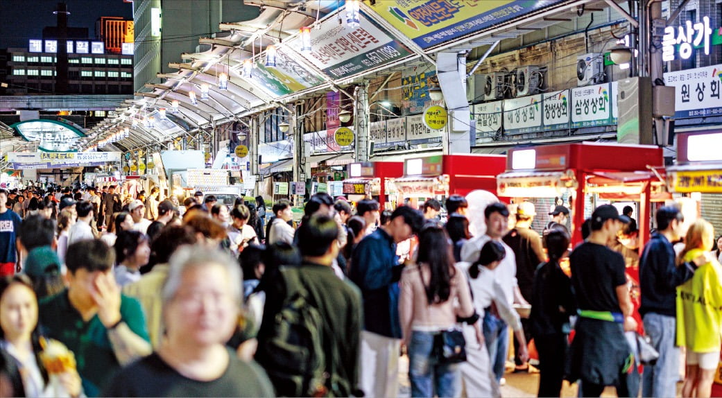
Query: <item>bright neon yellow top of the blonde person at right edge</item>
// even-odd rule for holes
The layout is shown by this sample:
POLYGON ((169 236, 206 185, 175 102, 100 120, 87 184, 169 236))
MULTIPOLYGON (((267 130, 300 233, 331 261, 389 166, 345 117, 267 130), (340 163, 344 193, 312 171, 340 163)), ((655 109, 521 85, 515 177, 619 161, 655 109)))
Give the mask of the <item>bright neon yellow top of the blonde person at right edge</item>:
MULTIPOLYGON (((701 256, 690 250, 684 261, 701 256)), ((684 267, 684 264, 680 267, 684 267)), ((722 345, 722 269, 717 261, 697 268, 695 276, 677 287, 677 345, 693 352, 719 351, 722 345)))

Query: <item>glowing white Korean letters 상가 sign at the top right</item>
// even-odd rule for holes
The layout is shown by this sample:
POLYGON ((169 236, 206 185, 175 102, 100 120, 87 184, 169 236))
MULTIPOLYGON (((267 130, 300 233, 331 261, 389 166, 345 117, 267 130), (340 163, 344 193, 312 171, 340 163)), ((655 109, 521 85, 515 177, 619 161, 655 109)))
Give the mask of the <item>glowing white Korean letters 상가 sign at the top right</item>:
POLYGON ((700 22, 687 21, 684 25, 664 28, 662 37, 662 61, 690 59, 692 48, 701 48, 705 55, 710 55, 710 46, 722 43, 720 30, 713 37, 710 17, 704 16, 700 22))

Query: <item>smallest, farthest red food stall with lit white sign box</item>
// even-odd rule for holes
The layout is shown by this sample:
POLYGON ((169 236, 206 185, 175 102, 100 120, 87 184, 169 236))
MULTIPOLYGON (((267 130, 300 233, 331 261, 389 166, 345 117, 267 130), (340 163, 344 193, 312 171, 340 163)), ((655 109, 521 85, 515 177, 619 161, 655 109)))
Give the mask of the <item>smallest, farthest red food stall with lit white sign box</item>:
POLYGON ((352 201, 365 197, 378 197, 378 204, 385 209, 386 198, 395 193, 393 178, 404 174, 401 162, 362 162, 348 165, 348 176, 344 183, 344 195, 352 201))

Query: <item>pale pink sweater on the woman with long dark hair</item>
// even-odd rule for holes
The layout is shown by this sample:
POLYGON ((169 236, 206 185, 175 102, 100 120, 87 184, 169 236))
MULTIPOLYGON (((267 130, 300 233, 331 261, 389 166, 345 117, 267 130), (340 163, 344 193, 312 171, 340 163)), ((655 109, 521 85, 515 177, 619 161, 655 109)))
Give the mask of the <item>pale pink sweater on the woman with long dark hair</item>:
POLYGON ((411 340, 412 329, 427 331, 449 329, 456 324, 456 316, 468 317, 474 313, 469 283, 461 269, 453 268, 451 293, 443 303, 429 305, 424 285, 431 280, 429 267, 425 264, 409 265, 401 274, 401 298, 399 316, 404 341, 411 340), (421 274, 423 273, 423 282, 421 274))

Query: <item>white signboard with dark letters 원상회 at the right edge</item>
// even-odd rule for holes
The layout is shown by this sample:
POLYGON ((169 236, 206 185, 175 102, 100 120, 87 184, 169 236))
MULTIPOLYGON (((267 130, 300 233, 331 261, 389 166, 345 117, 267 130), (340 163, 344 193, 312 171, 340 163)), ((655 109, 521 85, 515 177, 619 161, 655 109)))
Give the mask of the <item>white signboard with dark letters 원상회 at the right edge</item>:
POLYGON ((703 66, 664 74, 674 86, 674 117, 699 118, 722 115, 722 65, 703 66))

